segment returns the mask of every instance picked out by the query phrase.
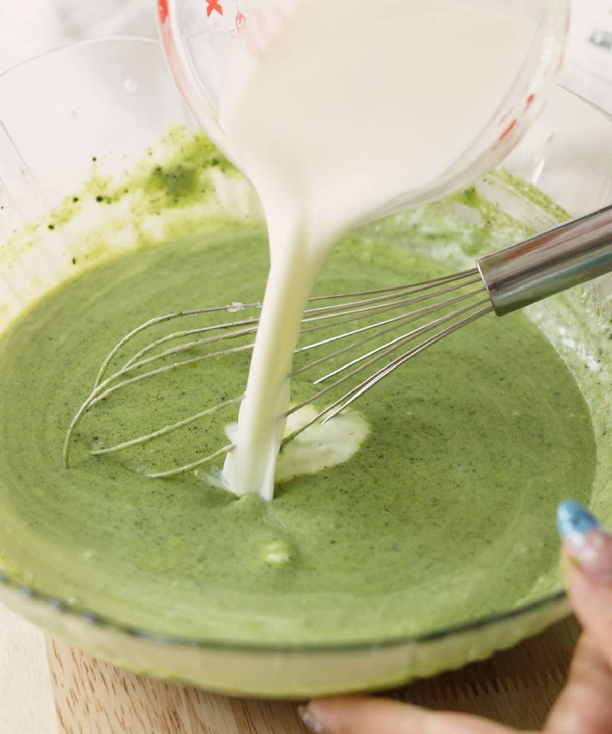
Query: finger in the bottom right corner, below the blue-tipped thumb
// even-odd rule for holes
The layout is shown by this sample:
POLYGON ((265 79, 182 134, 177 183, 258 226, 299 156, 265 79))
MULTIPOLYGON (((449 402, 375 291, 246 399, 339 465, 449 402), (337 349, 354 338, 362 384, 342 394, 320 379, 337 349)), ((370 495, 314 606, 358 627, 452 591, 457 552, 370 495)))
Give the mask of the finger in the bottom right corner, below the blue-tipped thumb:
POLYGON ((569 680, 550 712, 550 734, 612 732, 612 671, 599 643, 588 633, 578 642, 569 680))

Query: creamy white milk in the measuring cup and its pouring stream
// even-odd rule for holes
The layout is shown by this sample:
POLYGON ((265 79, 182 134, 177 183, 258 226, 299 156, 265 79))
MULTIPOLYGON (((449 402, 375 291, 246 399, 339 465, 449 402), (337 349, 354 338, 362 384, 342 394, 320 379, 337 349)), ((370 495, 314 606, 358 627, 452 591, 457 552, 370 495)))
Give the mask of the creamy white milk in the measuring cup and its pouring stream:
POLYGON ((273 497, 292 352, 334 241, 461 156, 535 32, 503 0, 301 0, 267 43, 234 48, 219 119, 262 200, 271 256, 223 469, 237 495, 273 497))

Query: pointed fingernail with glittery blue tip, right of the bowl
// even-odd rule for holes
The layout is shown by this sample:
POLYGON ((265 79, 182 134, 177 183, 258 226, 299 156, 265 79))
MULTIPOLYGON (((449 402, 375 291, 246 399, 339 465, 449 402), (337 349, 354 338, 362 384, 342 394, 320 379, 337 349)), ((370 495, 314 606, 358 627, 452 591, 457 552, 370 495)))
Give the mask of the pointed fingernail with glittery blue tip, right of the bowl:
POLYGON ((578 502, 561 502, 557 527, 570 558, 596 581, 612 581, 612 537, 578 502))

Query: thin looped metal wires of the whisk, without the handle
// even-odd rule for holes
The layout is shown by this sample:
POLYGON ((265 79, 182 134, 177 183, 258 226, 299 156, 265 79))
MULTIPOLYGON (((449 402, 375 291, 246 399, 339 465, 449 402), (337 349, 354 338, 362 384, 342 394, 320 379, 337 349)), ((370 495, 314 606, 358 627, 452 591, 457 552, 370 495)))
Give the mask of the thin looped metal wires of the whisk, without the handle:
MULTIPOLYGON (((302 330, 303 335, 314 334, 317 331, 323 329, 329 330, 336 329, 338 327, 344 327, 345 324, 350 324, 351 322, 359 321, 361 319, 370 319, 371 317, 381 316, 394 310, 402 310, 402 313, 395 316, 389 316, 385 319, 377 320, 372 323, 367 323, 364 326, 359 326, 348 331, 341 331, 333 336, 328 336, 318 341, 312 341, 305 346, 299 346, 298 349, 295 350, 296 355, 306 352, 312 352, 312 350, 314 349, 326 346, 328 344, 333 344, 336 341, 347 340, 351 337, 361 335, 361 338, 359 338, 358 341, 350 341, 349 344, 345 344, 345 346, 334 350, 334 352, 331 352, 330 354, 323 355, 322 357, 317 357, 317 359, 313 360, 306 366, 302 366, 293 371, 289 375, 289 377, 303 374, 306 371, 311 370, 312 368, 328 362, 329 360, 332 360, 344 354, 348 354, 349 352, 353 352, 354 350, 361 348, 361 346, 368 344, 370 341, 381 338, 381 336, 390 334, 396 331, 398 328, 405 326, 406 324, 418 321, 425 316, 429 316, 441 310, 453 308, 453 306, 472 299, 477 295, 480 296, 480 300, 475 303, 469 303, 468 305, 456 310, 456 312, 447 314, 441 319, 431 321, 430 324, 425 324, 425 326, 423 327, 408 330, 408 332, 402 333, 399 336, 396 336, 395 338, 386 341, 384 344, 375 347, 375 349, 371 349, 364 355, 353 357, 353 359, 348 361, 348 363, 345 363, 339 368, 334 369, 323 377, 315 379, 313 381, 313 384, 317 385, 320 382, 324 382, 325 380, 330 379, 331 377, 335 377, 336 374, 339 374, 342 371, 350 370, 342 377, 335 379, 334 382, 331 382, 331 384, 327 385, 325 388, 323 388, 323 390, 319 390, 312 397, 311 400, 303 402, 298 407, 289 410, 285 417, 291 415, 292 413, 295 413, 295 410, 297 410, 299 407, 304 407, 306 404, 309 404, 313 400, 325 395, 330 390, 333 390, 337 386, 342 385, 351 377, 355 377, 357 374, 360 374, 362 371, 372 366, 374 363, 378 362, 378 360, 381 360, 387 355, 392 354, 392 352, 395 352, 397 349, 400 349, 400 347, 403 346, 403 344, 406 344, 407 341, 414 340, 422 333, 435 329, 439 325, 446 324, 447 321, 450 321, 451 319, 456 319, 457 316, 466 313, 468 310, 473 310, 478 305, 483 303, 483 294, 486 294, 486 290, 483 287, 482 281, 480 280, 478 270, 469 269, 464 272, 454 273, 453 275, 446 275, 439 278, 433 278, 431 280, 423 280, 419 283, 411 283, 408 286, 393 286, 390 288, 377 288, 370 291, 355 291, 348 294, 328 294, 325 296, 312 297, 311 299, 309 299, 309 303, 312 304, 312 306, 311 308, 306 309, 302 320, 302 323, 304 325, 304 328, 302 330), (477 288, 472 288, 471 290, 467 292, 462 292, 458 295, 452 295, 455 291, 460 291, 461 289, 464 290, 469 286, 476 286, 477 284, 477 288), (431 301, 432 299, 434 299, 433 303, 425 306, 421 305, 423 302, 431 301), (325 303, 326 305, 318 305, 320 303, 325 303), (415 305, 420 305, 420 308, 413 308, 415 305)), ((488 299, 485 298, 484 300, 486 301, 488 299)), ((150 379, 151 377, 164 374, 165 372, 175 371, 179 368, 192 366, 197 363, 212 359, 213 357, 226 357, 237 352, 245 352, 253 349, 254 341, 250 341, 247 344, 240 344, 239 346, 219 349, 212 352, 207 352, 204 355, 190 357, 187 360, 180 360, 151 368, 151 366, 153 366, 155 363, 159 363, 162 360, 167 360, 168 357, 179 355, 181 354, 181 352, 186 352, 189 349, 209 347, 219 342, 226 343, 228 340, 231 339, 254 335, 257 330, 257 324, 259 323, 259 317, 253 316, 245 319, 236 319, 234 321, 223 321, 219 324, 207 324, 204 327, 179 330, 165 335, 161 338, 156 338, 154 341, 151 341, 149 344, 146 344, 144 347, 135 352, 134 355, 129 357, 126 362, 123 363, 123 365, 120 366, 120 368, 118 368, 116 371, 112 372, 111 374, 107 374, 109 371, 109 367, 111 366, 113 360, 115 360, 115 357, 118 357, 118 355, 120 355, 120 352, 124 348, 126 348, 126 346, 128 346, 134 338, 136 338, 138 335, 145 332, 145 330, 148 330, 151 327, 155 327, 168 321, 173 321, 174 319, 180 319, 185 316, 204 316, 215 315, 217 313, 236 313, 238 311, 248 309, 259 310, 261 306, 262 304, 260 302, 248 304, 232 303, 226 306, 215 306, 212 308, 200 308, 167 313, 163 316, 156 316, 153 319, 148 319, 148 321, 140 324, 138 327, 134 328, 129 334, 120 339, 120 341, 118 341, 118 343, 115 344, 115 346, 111 349, 109 355, 107 355, 107 357, 104 359, 104 362, 102 363, 101 368, 98 371, 93 390, 91 391, 90 395, 87 396, 87 399, 84 400, 81 407, 79 407, 79 410, 76 412, 73 420, 71 421, 71 425, 68 427, 68 432, 66 433, 62 454, 65 467, 68 467, 69 465, 71 442, 73 440, 76 426, 79 424, 79 421, 81 421, 83 415, 87 413, 88 410, 90 410, 100 401, 107 399, 113 393, 118 392, 118 390, 123 390, 129 385, 134 385, 135 383, 141 382, 145 379, 150 379), (162 349, 162 351, 160 352, 155 352, 154 354, 151 354, 151 352, 153 352, 154 349, 159 346, 169 344, 170 342, 176 341, 181 338, 189 338, 194 335, 204 334, 206 334, 204 338, 185 341, 178 346, 172 346, 168 349, 162 349), (143 368, 146 368, 146 371, 140 372, 140 370, 142 370, 143 368)), ((489 308, 489 310, 491 310, 491 308, 489 308)), ((378 374, 378 372, 375 374, 378 374)), ((364 385, 360 383, 358 387, 363 388, 364 385)), ((342 396, 342 399, 351 399, 353 394, 354 389, 350 390, 348 393, 345 393, 345 395, 342 396)), ((228 401, 223 401, 222 403, 207 410, 203 410, 200 413, 187 416, 187 418, 182 418, 180 421, 176 421, 176 423, 162 426, 162 428, 157 429, 153 432, 134 437, 133 439, 123 441, 113 446, 93 449, 92 451, 90 451, 90 453, 93 455, 112 454, 118 451, 123 451, 127 448, 132 448, 133 446, 139 446, 144 443, 148 443, 148 441, 168 435, 169 433, 179 430, 182 427, 192 424, 195 421, 206 418, 207 415, 211 415, 217 410, 221 410, 231 404, 237 403, 242 399, 242 397, 242 394, 234 396, 234 398, 228 401)), ((325 413, 327 413, 329 410, 336 407, 336 404, 337 401, 334 401, 334 403, 328 405, 322 415, 325 415, 325 413)), ((339 412, 340 411, 337 411, 337 413, 339 412)), ((306 429, 306 427, 312 425, 313 422, 314 421, 309 421, 308 425, 303 426, 302 429, 299 429, 298 431, 294 432, 290 437, 287 437, 284 443, 287 443, 287 440, 291 440, 303 429, 306 429)), ((189 464, 185 464, 165 472, 148 473, 145 476, 156 478, 162 476, 176 476, 180 473, 195 470, 196 468, 199 468, 206 463, 212 462, 214 459, 217 459, 221 455, 226 454, 228 451, 231 451, 231 448, 233 448, 233 445, 228 444, 227 446, 223 446, 223 448, 220 448, 218 451, 209 454, 207 457, 204 457, 203 459, 198 459, 198 462, 190 462, 189 464)))

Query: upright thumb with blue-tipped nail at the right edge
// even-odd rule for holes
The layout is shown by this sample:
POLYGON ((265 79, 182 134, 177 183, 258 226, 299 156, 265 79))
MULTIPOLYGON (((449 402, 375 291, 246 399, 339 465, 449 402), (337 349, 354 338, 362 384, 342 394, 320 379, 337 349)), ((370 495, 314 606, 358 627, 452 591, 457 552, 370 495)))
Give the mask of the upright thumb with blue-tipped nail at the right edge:
POLYGON ((612 669, 612 537, 577 502, 562 502, 557 524, 569 599, 612 669))

